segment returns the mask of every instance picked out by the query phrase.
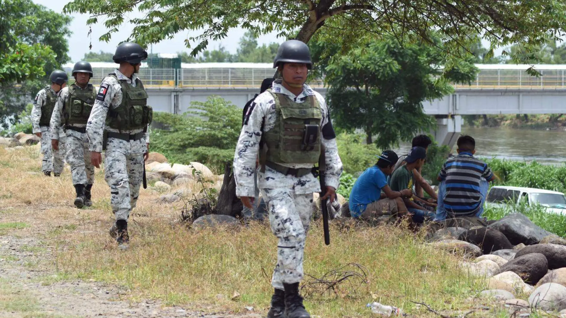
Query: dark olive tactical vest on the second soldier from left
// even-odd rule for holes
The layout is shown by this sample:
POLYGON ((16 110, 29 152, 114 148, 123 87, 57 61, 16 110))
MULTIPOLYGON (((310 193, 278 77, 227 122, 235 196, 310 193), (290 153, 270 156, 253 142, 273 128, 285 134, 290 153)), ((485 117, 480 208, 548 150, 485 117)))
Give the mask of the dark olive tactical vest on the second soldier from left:
POLYGON ((96 91, 92 84, 87 88, 81 89, 73 84, 69 87, 69 95, 65 101, 65 125, 87 124, 88 117, 91 115, 92 105, 95 104, 96 91))

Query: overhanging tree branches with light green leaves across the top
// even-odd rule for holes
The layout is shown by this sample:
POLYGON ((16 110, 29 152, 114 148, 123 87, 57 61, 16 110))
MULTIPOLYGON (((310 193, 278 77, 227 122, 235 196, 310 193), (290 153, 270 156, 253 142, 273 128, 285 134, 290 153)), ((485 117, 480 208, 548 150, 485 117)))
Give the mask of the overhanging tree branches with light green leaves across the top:
POLYGON ((345 45, 354 44, 363 34, 401 39, 411 33, 418 42, 432 43, 428 31, 435 29, 443 33, 445 49, 455 54, 475 41, 470 34, 482 34, 491 43, 490 51, 517 42, 534 46, 547 35, 560 37, 566 22, 566 3, 561 0, 74 0, 64 10, 90 14, 88 24, 104 19, 109 29, 100 36, 104 41, 110 40, 133 10, 143 17, 130 20, 135 27, 129 40, 141 44, 156 43, 185 30, 201 32, 186 39, 193 56, 209 40, 224 38, 236 27, 256 35, 278 31, 282 37, 308 42, 331 21, 337 26, 330 29, 333 38, 345 39, 345 45))

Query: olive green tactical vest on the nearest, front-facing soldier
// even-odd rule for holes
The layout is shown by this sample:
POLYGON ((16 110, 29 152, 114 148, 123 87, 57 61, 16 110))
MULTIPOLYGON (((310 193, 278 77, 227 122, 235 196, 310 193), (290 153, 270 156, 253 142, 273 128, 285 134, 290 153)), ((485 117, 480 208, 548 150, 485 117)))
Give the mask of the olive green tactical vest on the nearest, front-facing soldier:
POLYGON ((316 164, 320 157, 320 124, 322 113, 314 95, 307 97, 302 104, 291 101, 284 94, 269 93, 275 98, 276 119, 272 130, 261 136, 261 162, 281 162, 285 164, 316 164), (305 124, 318 125, 318 135, 311 150, 303 150, 305 124), (262 161, 263 160, 263 161, 262 161))

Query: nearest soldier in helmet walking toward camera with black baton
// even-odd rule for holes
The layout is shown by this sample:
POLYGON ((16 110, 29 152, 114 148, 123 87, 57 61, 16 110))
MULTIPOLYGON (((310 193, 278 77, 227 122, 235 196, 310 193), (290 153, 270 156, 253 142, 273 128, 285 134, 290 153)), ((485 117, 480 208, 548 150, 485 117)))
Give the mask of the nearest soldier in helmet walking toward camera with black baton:
POLYGON ((275 293, 268 317, 308 318, 299 282, 312 193, 321 190, 313 167, 324 148, 327 194, 322 199, 333 201, 342 162, 324 98, 305 84, 312 67, 308 46, 297 40, 284 42, 273 67, 282 79, 252 102, 236 146, 236 194, 246 207, 252 207, 259 153, 259 188, 267 203, 271 230, 278 238, 272 277, 275 293))

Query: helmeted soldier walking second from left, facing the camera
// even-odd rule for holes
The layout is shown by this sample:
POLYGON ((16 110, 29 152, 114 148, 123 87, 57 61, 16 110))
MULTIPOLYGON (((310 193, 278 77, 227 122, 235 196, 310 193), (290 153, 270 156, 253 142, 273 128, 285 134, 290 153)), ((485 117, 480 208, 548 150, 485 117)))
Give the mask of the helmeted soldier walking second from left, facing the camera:
POLYGON ((96 98, 96 88, 88 83, 92 75, 90 63, 75 63, 72 68, 75 84, 61 90, 51 117, 51 143, 55 151, 59 149, 59 131, 62 125, 67 135, 67 163, 71 166, 77 208, 92 205, 91 189, 95 182, 95 167, 91 163, 86 130, 96 98))

